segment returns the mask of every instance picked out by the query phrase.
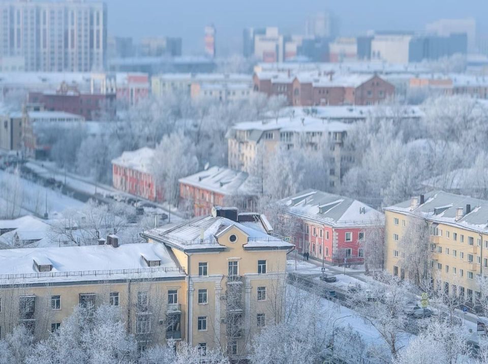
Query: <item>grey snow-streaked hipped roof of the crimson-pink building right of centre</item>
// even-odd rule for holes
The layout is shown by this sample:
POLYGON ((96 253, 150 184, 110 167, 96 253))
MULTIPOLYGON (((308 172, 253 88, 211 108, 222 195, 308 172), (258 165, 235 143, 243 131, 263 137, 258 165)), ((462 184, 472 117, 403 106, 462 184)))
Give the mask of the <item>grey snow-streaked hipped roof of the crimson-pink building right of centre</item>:
POLYGON ((301 191, 280 201, 292 215, 334 227, 376 225, 383 214, 360 201, 314 189, 301 191))

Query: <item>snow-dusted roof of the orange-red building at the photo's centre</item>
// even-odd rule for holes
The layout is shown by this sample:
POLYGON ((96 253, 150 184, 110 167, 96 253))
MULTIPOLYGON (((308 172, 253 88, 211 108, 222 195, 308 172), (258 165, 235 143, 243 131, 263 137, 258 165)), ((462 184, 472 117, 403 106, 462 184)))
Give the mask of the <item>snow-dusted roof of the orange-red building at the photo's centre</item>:
POLYGON ((219 166, 180 178, 178 182, 224 195, 257 195, 260 191, 256 177, 219 166))

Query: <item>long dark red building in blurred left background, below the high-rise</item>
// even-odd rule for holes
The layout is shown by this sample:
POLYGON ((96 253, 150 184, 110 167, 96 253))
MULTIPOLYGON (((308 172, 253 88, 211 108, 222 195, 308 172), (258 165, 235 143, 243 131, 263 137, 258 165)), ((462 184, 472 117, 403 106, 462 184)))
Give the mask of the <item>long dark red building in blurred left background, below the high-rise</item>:
POLYGON ((86 120, 97 120, 102 113, 115 115, 115 94, 81 93, 63 82, 56 91, 29 92, 27 102, 40 103, 48 111, 64 111, 86 120))

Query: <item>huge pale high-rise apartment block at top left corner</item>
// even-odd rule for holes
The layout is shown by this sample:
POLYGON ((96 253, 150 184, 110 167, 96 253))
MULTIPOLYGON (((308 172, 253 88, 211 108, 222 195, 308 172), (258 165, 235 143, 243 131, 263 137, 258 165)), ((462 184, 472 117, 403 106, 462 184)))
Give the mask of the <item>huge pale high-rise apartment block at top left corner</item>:
POLYGON ((0 57, 24 57, 26 71, 86 72, 105 66, 104 3, 2 1, 0 24, 0 57))

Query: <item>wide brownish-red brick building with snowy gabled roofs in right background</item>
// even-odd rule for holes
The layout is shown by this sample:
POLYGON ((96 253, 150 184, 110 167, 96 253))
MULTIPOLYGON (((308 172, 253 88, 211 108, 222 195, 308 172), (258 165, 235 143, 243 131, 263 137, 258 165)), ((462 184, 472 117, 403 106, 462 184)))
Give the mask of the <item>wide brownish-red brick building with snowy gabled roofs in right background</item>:
POLYGON ((284 95, 290 105, 374 105, 391 97, 395 87, 377 75, 259 72, 254 91, 267 96, 284 95))

